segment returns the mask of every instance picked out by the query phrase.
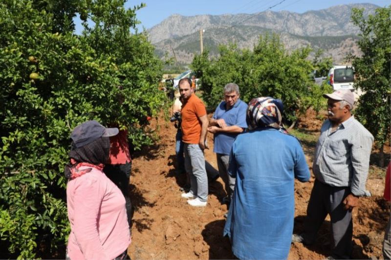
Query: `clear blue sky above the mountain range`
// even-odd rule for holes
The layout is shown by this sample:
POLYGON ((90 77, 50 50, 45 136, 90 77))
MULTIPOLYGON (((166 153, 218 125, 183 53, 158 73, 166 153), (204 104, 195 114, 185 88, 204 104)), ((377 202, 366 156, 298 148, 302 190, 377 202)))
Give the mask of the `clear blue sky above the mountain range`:
MULTIPOLYGON (((141 21, 139 30, 149 29, 153 25, 160 23, 173 14, 184 16, 194 15, 221 15, 238 13, 258 13, 265 10, 290 11, 304 13, 310 10, 325 9, 330 6, 348 3, 373 3, 381 7, 391 4, 391 0, 128 0, 127 7, 139 5, 141 2, 147 4, 136 13, 136 17, 141 21), (277 5, 276 5, 277 4, 277 5), (269 9, 269 7, 275 7, 269 9)), ((77 24, 76 33, 82 30, 77 24)), ((80 22, 80 21, 79 21, 80 22)))

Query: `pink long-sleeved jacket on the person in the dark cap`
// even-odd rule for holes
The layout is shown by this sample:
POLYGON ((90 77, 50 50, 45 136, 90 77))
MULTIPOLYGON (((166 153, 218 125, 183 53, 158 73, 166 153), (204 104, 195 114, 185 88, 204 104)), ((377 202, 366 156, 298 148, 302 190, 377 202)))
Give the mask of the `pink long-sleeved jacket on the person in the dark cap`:
MULTIPOLYGON (((79 170, 89 168, 82 166, 79 170)), ((130 244, 125 198, 119 188, 96 168, 66 187, 71 233, 71 260, 108 260, 122 254, 130 244)))

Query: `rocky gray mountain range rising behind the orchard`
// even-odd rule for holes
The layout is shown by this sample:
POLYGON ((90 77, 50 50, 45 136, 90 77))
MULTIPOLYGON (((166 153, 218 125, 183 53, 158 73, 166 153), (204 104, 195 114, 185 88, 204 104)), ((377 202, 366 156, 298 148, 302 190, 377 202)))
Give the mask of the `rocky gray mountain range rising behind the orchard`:
POLYGON ((252 49, 266 32, 280 35, 285 48, 311 46, 324 49, 334 63, 343 63, 348 53, 360 54, 357 47, 359 28, 350 21, 352 8, 363 8, 364 16, 379 6, 369 3, 332 6, 303 14, 265 11, 254 14, 196 15, 174 14, 148 30, 149 40, 162 59, 175 54, 178 63, 189 64, 199 54, 199 30, 204 49, 218 54, 218 45, 235 42, 239 48, 252 49), (173 51, 174 50, 174 51, 173 51))

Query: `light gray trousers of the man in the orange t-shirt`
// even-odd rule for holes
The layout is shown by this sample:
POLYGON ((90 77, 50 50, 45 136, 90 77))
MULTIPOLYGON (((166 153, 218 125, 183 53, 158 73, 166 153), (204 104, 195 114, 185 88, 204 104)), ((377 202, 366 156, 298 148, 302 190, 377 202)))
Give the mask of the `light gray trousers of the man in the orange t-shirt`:
POLYGON ((198 144, 185 143, 185 169, 190 176, 190 191, 201 201, 208 200, 208 177, 205 170, 204 151, 198 144))

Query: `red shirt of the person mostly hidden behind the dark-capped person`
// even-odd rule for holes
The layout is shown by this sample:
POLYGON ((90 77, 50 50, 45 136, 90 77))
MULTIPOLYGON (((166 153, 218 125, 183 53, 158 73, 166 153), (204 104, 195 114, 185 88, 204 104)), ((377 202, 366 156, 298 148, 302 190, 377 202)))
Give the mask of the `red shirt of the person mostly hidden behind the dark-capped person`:
POLYGON ((120 130, 118 135, 110 137, 110 157, 107 164, 125 164, 130 161, 128 131, 120 130))

